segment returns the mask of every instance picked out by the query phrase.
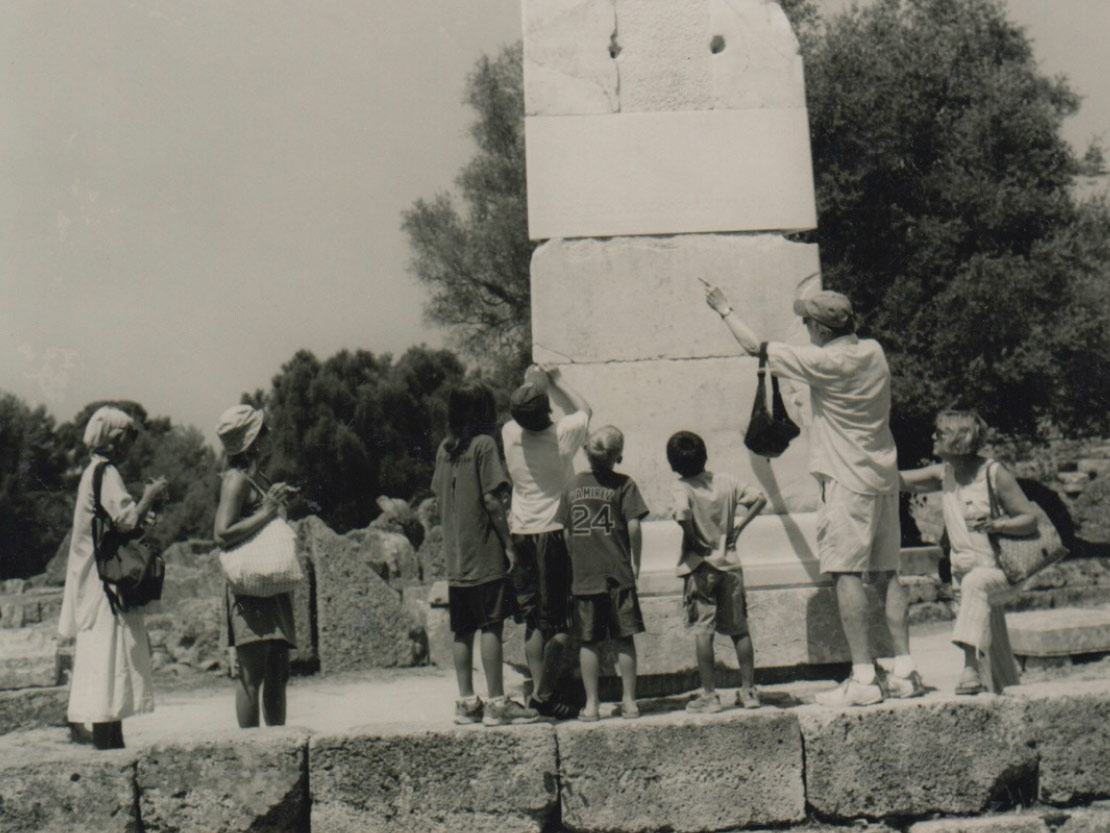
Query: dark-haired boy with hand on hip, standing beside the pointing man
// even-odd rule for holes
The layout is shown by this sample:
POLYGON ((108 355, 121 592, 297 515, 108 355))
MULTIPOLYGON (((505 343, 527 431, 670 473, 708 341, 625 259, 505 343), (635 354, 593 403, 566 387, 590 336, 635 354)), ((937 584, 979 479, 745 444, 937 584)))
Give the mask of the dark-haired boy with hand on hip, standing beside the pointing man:
POLYGON ((684 576, 686 624, 695 632, 702 678, 702 693, 686 704, 686 711, 702 714, 724 707, 714 680, 715 632, 729 636, 736 649, 740 666, 737 703, 745 709, 759 707, 736 540, 767 505, 767 498, 758 489, 730 474, 706 471, 707 458, 705 442, 690 431, 679 431, 667 440, 667 462, 682 478, 672 492, 673 516, 683 528, 683 551, 675 572, 684 576), (737 520, 739 505, 747 511, 737 520))

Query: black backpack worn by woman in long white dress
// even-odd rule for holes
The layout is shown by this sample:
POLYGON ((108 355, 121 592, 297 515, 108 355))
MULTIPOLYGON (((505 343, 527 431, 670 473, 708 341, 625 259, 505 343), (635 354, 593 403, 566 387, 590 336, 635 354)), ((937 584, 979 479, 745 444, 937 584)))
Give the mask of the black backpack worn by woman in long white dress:
POLYGON ((108 465, 108 461, 98 463, 92 472, 92 551, 114 613, 161 599, 165 562, 141 540, 142 530, 121 532, 104 511, 100 490, 108 465))

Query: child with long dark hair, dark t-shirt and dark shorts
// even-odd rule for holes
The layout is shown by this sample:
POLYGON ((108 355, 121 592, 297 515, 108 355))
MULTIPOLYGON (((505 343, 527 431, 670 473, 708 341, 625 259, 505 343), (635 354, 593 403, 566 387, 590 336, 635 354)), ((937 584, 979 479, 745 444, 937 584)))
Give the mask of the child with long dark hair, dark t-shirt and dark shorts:
POLYGON ((515 561, 505 506, 508 475, 492 436, 493 392, 481 382, 453 389, 447 399, 447 436, 435 455, 432 491, 440 504, 447 565, 447 609, 454 635, 458 700, 455 723, 497 726, 533 723, 539 715, 505 696, 502 629, 513 613, 507 579, 515 561), (474 693, 474 634, 481 632, 482 668, 490 700, 474 693))

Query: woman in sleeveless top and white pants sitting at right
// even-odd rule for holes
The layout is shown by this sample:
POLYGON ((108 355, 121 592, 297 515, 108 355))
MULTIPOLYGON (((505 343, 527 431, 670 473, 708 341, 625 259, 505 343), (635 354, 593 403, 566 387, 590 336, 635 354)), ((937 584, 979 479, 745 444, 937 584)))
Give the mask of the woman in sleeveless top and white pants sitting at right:
POLYGON ((986 439, 979 414, 942 411, 932 434, 932 453, 941 462, 901 472, 902 491, 940 492, 952 578, 959 583, 952 642, 963 650, 963 673, 957 694, 1000 693, 1018 682, 1000 606, 1011 588, 998 566, 991 535, 1028 535, 1037 529, 1033 506, 1013 474, 979 454, 986 439), (991 518, 990 490, 1000 510, 997 518, 991 518))

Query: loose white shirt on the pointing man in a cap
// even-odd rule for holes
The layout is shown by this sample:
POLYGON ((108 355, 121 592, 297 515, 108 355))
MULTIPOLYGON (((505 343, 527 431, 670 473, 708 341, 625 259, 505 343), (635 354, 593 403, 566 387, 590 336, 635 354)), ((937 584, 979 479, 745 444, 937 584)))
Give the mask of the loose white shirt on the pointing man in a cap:
POLYGON ((809 385, 809 471, 857 494, 898 491, 890 368, 879 342, 841 335, 824 347, 767 345, 767 367, 809 385))

